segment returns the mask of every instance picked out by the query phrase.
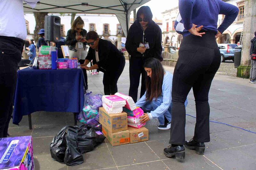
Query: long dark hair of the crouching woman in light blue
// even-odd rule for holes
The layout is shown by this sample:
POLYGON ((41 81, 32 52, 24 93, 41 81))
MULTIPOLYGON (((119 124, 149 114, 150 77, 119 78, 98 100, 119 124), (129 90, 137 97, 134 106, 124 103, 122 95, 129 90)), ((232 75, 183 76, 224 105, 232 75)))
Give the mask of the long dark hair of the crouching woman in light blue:
POLYGON ((156 58, 148 58, 144 68, 151 68, 151 78, 146 78, 146 99, 150 102, 162 95, 163 76, 165 71, 162 64, 156 58))

